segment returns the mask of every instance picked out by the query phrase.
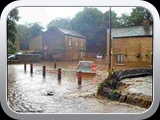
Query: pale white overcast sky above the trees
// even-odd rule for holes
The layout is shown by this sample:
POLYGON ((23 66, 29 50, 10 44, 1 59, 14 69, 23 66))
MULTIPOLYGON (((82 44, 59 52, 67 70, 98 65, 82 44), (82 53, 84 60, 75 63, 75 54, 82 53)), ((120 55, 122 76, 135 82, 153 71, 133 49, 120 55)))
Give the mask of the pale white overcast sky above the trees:
MULTIPOLYGON (((109 7, 96 7, 102 13, 109 10, 109 7)), ((111 7, 111 10, 120 16, 122 13, 130 14, 133 7, 111 7)), ((72 19, 76 13, 83 11, 84 7, 18 7, 21 17, 18 24, 40 22, 46 28, 47 24, 56 18, 72 19)))

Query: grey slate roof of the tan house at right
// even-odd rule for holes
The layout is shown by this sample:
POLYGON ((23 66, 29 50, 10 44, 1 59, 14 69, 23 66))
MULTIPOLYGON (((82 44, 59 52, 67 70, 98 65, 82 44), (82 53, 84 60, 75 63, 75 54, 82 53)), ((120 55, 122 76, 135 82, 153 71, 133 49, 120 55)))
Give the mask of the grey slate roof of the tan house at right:
POLYGON ((111 37, 134 37, 134 36, 152 36, 152 26, 145 31, 143 26, 132 26, 123 28, 112 28, 111 37))

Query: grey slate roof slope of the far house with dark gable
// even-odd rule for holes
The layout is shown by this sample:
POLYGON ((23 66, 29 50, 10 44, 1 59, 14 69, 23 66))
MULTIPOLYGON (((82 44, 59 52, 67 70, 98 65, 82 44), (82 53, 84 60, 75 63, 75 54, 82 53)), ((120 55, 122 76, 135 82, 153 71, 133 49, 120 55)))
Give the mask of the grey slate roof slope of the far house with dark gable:
POLYGON ((65 35, 71 35, 71 36, 75 36, 75 37, 80 37, 80 38, 86 38, 83 35, 75 32, 75 31, 71 31, 71 30, 65 30, 65 29, 61 29, 61 28, 57 28, 59 31, 61 31, 62 33, 64 33, 65 35))

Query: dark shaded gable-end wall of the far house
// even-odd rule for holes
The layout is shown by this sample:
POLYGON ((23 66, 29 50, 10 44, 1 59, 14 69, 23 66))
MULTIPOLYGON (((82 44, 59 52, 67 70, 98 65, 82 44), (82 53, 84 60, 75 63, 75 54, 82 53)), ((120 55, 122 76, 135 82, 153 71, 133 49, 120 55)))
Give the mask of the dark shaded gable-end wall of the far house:
POLYGON ((43 60, 58 60, 58 56, 60 56, 59 59, 65 60, 65 53, 55 55, 56 48, 64 48, 64 37, 65 35, 57 29, 49 29, 42 35, 43 60))

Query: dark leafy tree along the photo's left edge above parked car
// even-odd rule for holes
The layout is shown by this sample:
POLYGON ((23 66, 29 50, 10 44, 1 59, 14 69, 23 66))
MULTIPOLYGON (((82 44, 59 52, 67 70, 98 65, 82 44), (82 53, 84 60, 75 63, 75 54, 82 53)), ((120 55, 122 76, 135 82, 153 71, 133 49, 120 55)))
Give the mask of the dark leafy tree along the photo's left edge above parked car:
POLYGON ((14 53, 16 51, 14 42, 17 39, 16 21, 18 21, 19 18, 18 9, 13 9, 7 16, 7 41, 9 53, 14 53))

